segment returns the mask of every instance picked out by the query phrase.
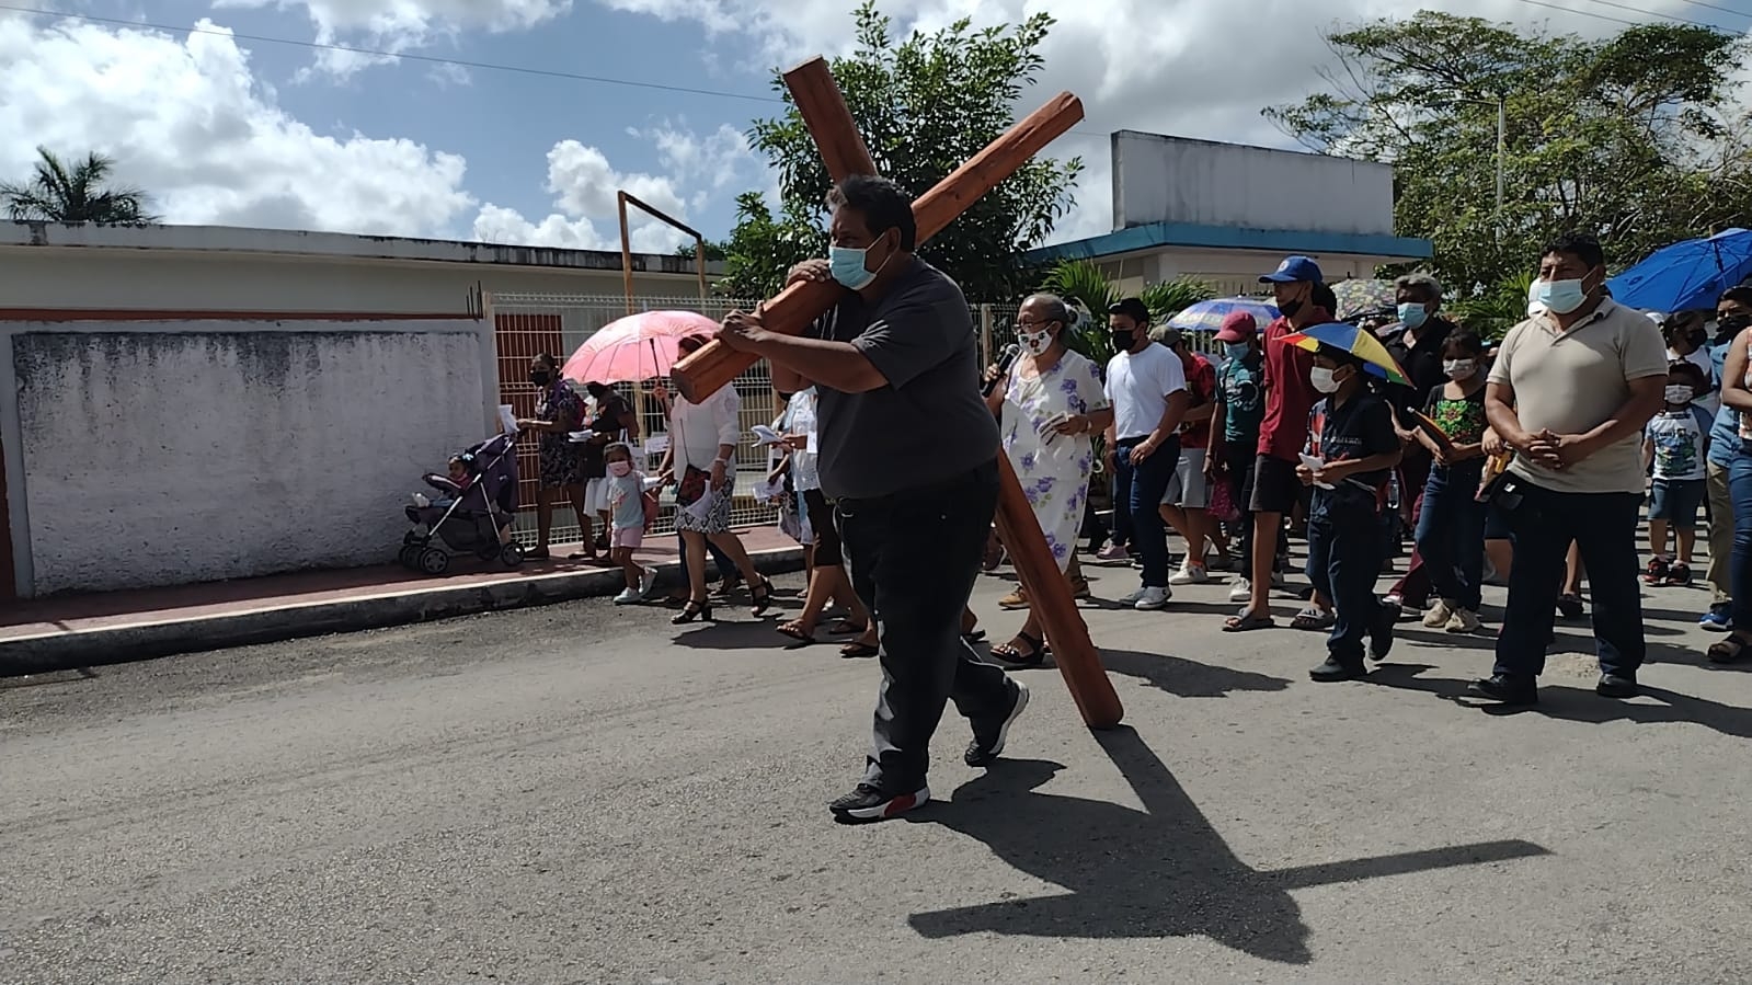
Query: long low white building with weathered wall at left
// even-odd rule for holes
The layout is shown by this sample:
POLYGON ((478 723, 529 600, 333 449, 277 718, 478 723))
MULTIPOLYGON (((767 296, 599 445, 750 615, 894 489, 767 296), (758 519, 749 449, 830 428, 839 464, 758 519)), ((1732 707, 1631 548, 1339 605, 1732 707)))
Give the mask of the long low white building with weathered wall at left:
MULTIPOLYGON (((699 296, 690 259, 632 270, 641 300, 699 296)), ((601 324, 622 258, 0 223, 0 599, 392 557, 401 496, 529 389, 522 347, 566 354, 559 315, 496 326, 482 291, 601 324)))

